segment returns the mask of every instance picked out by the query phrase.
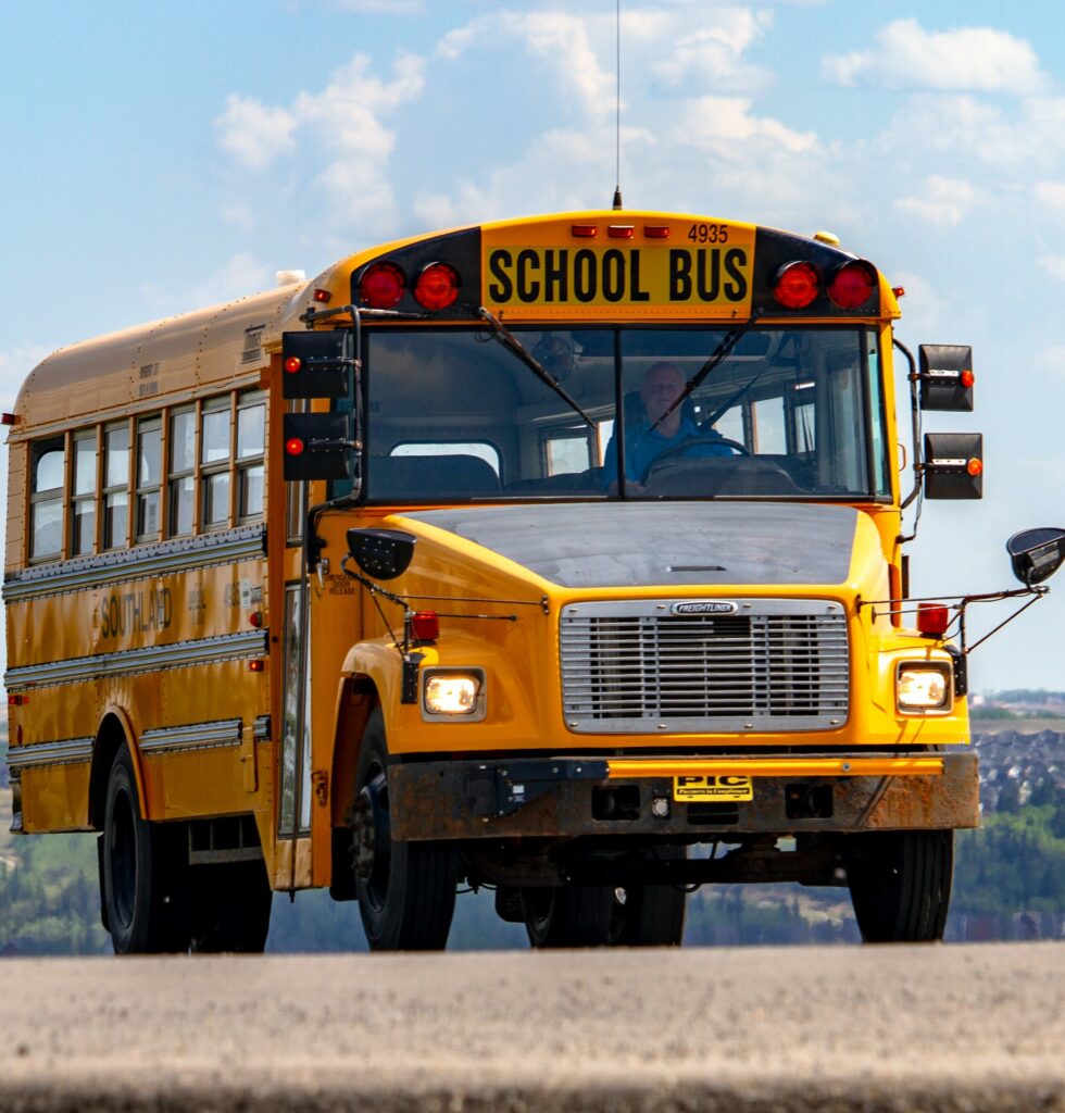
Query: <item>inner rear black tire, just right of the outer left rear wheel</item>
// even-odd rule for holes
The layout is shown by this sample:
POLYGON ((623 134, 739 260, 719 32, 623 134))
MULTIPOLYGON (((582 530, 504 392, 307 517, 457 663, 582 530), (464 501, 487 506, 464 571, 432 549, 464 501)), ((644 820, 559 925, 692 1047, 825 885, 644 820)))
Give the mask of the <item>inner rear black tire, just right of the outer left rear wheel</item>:
POLYGON ((189 887, 194 952, 263 953, 274 899, 265 863, 197 866, 189 887))

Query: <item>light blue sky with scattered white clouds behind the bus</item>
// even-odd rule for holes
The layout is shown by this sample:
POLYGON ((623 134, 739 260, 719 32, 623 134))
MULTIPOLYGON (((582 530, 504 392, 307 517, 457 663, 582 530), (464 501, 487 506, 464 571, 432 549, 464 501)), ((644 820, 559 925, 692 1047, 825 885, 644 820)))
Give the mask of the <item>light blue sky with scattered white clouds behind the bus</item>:
MULTIPOLYGON (((0 2, 0 404, 52 348, 393 235, 602 207, 614 0, 0 2)), ((829 229, 970 343, 983 503, 927 503, 915 593, 1009 584, 1065 525, 1065 6, 622 0, 627 205, 829 229)), ((999 607, 994 614, 1005 617, 999 607)), ((990 609, 974 615, 976 632, 990 609)), ((1065 688, 1048 600, 978 690, 1065 688)))

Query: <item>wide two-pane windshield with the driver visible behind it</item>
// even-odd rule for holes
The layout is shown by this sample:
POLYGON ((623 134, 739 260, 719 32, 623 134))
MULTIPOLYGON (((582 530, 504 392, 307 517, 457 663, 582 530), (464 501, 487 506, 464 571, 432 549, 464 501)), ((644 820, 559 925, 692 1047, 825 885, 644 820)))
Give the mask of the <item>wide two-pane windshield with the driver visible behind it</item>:
POLYGON ((367 331, 364 496, 890 493, 871 329, 511 332, 565 396, 486 331, 367 331))

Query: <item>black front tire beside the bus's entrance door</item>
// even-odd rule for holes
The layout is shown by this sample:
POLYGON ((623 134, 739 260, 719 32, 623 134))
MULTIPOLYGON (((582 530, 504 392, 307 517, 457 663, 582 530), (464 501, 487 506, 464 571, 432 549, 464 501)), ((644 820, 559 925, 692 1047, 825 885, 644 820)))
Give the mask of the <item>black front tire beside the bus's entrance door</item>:
POLYGON ((440 951, 455 915, 458 857, 447 843, 397 843, 388 812, 388 748, 375 710, 355 775, 352 843, 358 914, 371 951, 440 951))

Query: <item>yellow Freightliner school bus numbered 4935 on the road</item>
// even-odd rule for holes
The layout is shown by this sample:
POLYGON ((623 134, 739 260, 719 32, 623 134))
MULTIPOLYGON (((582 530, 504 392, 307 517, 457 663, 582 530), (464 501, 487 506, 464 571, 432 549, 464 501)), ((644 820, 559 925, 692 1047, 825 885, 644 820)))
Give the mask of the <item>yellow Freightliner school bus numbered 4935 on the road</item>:
MULTIPOLYGON (((900 293, 825 234, 586 211, 49 356, 4 417, 13 829, 99 833, 118 953, 260 951, 323 886, 442 947, 463 881, 534 946, 677 944, 751 880, 940 937, 966 601, 911 598, 903 515, 983 464, 915 416, 900 472, 896 375, 974 391, 900 293)), ((1014 539, 1020 592, 1063 551, 1014 539)))

